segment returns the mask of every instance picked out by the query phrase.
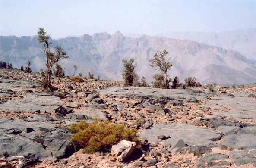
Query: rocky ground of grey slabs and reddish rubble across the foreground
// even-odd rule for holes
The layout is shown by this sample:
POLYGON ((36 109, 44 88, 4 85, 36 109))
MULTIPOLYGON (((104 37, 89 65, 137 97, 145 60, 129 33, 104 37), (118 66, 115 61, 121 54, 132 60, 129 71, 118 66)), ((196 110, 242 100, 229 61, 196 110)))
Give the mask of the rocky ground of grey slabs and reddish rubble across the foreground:
POLYGON ((54 78, 0 70, 0 168, 223 168, 256 166, 255 84, 186 90, 123 87, 119 81, 54 78), (98 117, 137 128, 142 149, 120 162, 83 154, 70 124, 98 117))

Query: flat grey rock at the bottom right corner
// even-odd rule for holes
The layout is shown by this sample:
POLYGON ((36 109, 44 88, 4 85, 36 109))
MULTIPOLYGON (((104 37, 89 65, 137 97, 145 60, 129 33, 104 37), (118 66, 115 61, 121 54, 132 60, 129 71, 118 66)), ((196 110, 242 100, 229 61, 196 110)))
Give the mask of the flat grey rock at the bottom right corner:
POLYGON ((235 166, 256 162, 256 158, 253 155, 242 151, 231 151, 229 152, 229 156, 235 166))

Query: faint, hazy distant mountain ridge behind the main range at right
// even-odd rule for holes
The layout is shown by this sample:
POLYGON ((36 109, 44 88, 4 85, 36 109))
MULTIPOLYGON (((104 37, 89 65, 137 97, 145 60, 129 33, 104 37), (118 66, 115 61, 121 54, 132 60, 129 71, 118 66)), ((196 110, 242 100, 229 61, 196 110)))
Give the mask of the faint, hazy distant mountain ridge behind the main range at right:
POLYGON ((229 50, 237 50, 256 61, 256 28, 239 29, 234 31, 216 32, 179 32, 168 31, 158 34, 161 37, 180 40, 191 40, 229 50))

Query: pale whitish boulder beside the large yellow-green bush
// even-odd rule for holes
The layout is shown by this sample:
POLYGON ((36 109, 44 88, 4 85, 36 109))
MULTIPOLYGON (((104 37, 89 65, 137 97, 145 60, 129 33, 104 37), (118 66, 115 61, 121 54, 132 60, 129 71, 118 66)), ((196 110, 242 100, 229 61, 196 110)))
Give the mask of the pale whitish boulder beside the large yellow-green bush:
POLYGON ((111 155, 118 156, 117 160, 123 162, 135 149, 135 142, 130 142, 127 140, 122 140, 117 145, 113 145, 111 148, 111 155))

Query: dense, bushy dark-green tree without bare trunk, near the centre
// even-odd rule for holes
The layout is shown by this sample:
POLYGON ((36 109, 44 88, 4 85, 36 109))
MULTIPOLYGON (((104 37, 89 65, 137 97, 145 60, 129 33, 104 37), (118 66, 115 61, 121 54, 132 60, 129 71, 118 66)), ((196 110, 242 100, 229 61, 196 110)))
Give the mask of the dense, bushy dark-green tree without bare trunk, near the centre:
POLYGON ((122 74, 124 79, 124 86, 132 86, 134 79, 137 77, 134 72, 137 63, 134 64, 133 59, 130 59, 129 61, 127 59, 123 59, 122 62, 124 66, 124 73, 122 74))

